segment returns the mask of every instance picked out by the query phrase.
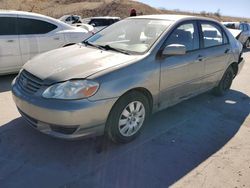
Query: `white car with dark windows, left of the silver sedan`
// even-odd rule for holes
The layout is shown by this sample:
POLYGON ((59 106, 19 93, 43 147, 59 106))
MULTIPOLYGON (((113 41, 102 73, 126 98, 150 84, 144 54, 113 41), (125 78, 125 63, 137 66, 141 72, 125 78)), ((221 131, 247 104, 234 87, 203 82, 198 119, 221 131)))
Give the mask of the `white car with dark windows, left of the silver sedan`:
POLYGON ((35 55, 79 43, 91 35, 40 14, 0 11, 0 75, 18 72, 35 55))

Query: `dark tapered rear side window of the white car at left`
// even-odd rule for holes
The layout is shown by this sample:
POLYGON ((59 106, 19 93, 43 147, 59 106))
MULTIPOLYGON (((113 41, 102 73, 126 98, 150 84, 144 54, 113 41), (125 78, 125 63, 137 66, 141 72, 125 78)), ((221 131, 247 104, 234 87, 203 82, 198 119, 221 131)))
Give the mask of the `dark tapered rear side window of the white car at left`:
POLYGON ((56 25, 30 18, 18 18, 18 33, 20 35, 45 34, 57 28, 56 25))

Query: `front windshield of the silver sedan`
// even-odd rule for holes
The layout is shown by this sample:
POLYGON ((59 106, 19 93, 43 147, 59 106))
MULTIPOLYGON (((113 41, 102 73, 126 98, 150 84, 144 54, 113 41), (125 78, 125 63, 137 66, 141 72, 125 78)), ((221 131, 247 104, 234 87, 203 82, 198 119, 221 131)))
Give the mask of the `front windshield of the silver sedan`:
POLYGON ((145 53, 171 23, 167 20, 125 19, 93 35, 87 42, 130 53, 145 53))

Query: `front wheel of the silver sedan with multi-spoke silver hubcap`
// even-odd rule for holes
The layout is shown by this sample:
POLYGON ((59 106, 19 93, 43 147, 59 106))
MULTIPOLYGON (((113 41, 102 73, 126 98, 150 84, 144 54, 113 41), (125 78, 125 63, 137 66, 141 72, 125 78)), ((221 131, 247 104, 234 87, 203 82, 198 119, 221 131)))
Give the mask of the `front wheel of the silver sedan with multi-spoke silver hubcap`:
POLYGON ((130 142, 140 134, 149 115, 148 98, 138 91, 131 91, 113 106, 106 123, 105 134, 115 143, 130 142))

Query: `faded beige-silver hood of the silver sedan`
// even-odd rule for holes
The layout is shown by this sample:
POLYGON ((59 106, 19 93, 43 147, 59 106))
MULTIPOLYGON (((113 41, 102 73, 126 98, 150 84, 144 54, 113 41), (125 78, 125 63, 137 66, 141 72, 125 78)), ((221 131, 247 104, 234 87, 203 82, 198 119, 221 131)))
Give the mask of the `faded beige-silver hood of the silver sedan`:
POLYGON ((113 51, 102 51, 84 45, 73 45, 38 55, 24 69, 46 83, 87 78, 105 69, 134 62, 139 58, 113 51))

